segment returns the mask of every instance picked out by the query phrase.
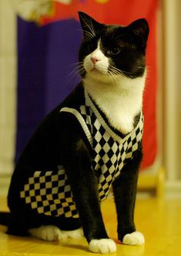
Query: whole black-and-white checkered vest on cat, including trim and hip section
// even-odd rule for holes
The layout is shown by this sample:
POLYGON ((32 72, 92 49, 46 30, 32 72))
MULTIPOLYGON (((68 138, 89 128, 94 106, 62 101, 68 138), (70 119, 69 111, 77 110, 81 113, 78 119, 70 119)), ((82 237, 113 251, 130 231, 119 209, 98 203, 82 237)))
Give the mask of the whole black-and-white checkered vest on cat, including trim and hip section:
MULTIPOLYGON (((126 161, 132 159, 133 152, 138 149, 142 140, 142 113, 136 128, 122 137, 102 118, 86 91, 85 105, 81 105, 79 110, 62 108, 60 112, 73 114, 81 125, 92 148, 92 170, 98 177, 99 200, 105 200, 112 182, 119 176, 126 161)), ((28 178, 20 196, 38 213, 79 217, 63 166, 58 166, 56 171, 34 172, 34 176, 28 178)))

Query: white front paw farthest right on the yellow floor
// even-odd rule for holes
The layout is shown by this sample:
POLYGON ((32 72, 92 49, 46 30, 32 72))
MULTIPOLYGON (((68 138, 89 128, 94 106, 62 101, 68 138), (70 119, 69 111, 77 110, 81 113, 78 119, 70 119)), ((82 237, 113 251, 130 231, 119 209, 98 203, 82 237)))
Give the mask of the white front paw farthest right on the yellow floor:
POLYGON ((139 231, 135 231, 131 234, 126 234, 123 237, 122 243, 127 245, 142 245, 145 244, 145 237, 139 231))

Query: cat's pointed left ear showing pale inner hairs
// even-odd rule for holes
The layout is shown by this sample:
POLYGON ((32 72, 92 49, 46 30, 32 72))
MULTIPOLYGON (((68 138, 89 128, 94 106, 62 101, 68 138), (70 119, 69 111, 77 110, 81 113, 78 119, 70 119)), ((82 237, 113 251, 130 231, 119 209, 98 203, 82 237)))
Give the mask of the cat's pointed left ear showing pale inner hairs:
POLYGON ((96 36, 97 31, 101 29, 103 24, 96 22, 95 19, 92 19, 92 17, 87 15, 85 12, 78 12, 78 14, 84 38, 90 39, 96 36))

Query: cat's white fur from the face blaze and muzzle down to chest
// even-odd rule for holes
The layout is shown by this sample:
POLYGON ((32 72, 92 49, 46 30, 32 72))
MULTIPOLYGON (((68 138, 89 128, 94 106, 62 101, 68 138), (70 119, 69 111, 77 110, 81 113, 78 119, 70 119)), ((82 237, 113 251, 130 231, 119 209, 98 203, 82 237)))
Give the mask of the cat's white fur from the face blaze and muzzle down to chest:
POLYGON ((83 79, 85 89, 106 114, 110 124, 126 134, 133 129, 134 118, 142 109, 142 94, 145 87, 146 72, 142 77, 131 79, 124 75, 108 75, 109 58, 100 49, 85 57, 87 71, 83 79), (96 70, 93 69, 92 56, 99 57, 96 70), (103 70, 103 72, 101 71, 103 70))

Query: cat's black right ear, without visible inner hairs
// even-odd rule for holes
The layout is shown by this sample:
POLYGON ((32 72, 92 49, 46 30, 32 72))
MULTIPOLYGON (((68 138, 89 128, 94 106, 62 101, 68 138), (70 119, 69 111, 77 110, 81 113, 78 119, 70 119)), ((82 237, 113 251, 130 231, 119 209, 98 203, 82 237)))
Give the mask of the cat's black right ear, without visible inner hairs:
POLYGON ((142 46, 146 46, 149 36, 149 24, 146 19, 136 19, 136 21, 129 24, 128 27, 136 36, 142 39, 142 46))

